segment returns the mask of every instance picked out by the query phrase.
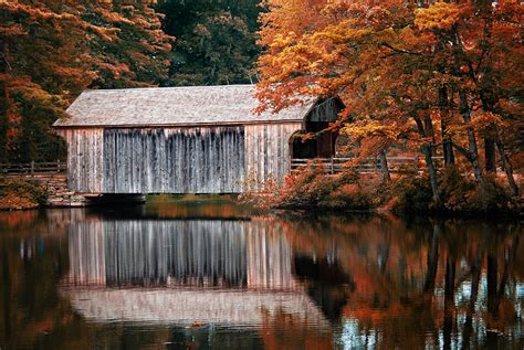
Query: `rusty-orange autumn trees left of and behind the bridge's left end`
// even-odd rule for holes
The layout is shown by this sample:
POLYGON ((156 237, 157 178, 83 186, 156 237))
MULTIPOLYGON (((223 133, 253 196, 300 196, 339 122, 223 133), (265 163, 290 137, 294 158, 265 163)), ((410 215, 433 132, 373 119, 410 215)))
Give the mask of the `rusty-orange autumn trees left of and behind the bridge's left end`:
POLYGON ((0 2, 0 161, 64 157, 50 126, 86 87, 167 78, 171 39, 148 2, 0 2))

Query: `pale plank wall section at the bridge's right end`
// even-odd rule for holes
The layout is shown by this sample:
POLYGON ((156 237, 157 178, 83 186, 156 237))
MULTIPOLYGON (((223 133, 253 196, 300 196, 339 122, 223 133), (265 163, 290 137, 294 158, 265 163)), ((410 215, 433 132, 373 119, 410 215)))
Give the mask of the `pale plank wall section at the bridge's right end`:
POLYGON ((245 183, 250 191, 261 190, 270 179, 282 181, 290 172, 290 137, 301 126, 301 123, 245 126, 245 183))

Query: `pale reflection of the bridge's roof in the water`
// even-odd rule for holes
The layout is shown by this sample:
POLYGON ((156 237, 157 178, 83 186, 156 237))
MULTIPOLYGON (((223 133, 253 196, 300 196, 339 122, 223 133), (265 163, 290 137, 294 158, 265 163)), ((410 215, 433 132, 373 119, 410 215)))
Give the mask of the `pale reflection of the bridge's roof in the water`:
POLYGON ((256 327, 279 311, 315 329, 329 321, 303 290, 62 288, 73 308, 91 321, 132 321, 190 326, 202 324, 256 327))

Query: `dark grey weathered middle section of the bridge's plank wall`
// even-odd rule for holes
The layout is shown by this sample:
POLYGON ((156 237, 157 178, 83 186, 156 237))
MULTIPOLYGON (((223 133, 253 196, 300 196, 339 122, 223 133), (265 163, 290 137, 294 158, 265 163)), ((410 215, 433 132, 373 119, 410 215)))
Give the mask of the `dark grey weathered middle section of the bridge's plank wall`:
POLYGON ((105 193, 238 193, 243 127, 106 129, 105 193))

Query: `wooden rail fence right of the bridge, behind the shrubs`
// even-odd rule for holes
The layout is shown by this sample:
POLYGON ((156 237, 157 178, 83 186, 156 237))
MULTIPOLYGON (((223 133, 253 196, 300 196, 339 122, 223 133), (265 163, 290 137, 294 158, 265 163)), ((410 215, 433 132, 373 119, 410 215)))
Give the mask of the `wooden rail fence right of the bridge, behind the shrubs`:
MULTIPOLYGON (((388 170, 390 172, 401 172, 406 169, 420 169, 425 166, 423 158, 420 157, 387 157, 388 170)), ((439 166, 443 162, 443 157, 433 157, 439 166)), ((338 173, 345 170, 355 170, 358 172, 379 172, 382 170, 378 158, 358 159, 357 158, 314 158, 314 159, 292 159, 291 170, 300 170, 306 167, 321 168, 326 173, 338 173)))

